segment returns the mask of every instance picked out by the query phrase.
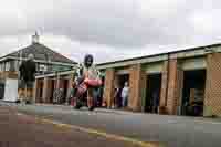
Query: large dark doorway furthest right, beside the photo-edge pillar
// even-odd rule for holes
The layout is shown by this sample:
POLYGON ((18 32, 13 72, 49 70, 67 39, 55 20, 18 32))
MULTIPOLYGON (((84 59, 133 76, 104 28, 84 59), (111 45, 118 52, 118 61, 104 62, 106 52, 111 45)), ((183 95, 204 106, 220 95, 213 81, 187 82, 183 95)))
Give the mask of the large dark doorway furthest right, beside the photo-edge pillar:
POLYGON ((204 86, 206 70, 183 72, 181 115, 203 115, 204 86))

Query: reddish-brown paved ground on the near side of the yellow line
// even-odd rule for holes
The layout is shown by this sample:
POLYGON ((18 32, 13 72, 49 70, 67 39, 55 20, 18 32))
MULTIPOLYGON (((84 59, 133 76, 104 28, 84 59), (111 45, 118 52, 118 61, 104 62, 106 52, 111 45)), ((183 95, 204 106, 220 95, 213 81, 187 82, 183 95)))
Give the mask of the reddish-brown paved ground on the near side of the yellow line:
POLYGON ((139 147, 40 122, 6 106, 0 106, 0 147, 139 147))

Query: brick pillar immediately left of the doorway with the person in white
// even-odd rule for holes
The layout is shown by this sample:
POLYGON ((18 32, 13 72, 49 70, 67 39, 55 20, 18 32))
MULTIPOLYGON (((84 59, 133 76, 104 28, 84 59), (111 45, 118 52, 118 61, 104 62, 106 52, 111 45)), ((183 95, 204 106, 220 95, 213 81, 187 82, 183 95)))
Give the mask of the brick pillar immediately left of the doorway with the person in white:
POLYGON ((114 98, 114 80, 115 80, 115 70, 107 69, 105 74, 105 84, 104 84, 104 101, 107 103, 107 107, 112 107, 112 102, 114 98))

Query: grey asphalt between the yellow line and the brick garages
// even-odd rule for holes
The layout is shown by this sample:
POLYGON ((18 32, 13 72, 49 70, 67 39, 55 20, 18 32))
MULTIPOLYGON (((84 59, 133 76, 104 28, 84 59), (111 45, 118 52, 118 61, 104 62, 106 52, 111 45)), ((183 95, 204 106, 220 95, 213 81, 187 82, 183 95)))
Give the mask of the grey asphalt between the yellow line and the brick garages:
POLYGON ((59 106, 14 106, 22 113, 81 127, 104 130, 168 147, 220 147, 219 120, 136 113, 73 111, 59 106))

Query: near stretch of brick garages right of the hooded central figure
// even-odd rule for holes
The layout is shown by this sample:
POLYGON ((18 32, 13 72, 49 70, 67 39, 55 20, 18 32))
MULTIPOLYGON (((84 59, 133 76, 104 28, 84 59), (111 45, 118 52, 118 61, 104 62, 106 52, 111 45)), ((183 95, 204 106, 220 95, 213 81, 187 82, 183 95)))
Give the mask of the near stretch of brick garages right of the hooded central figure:
MULTIPOLYGON (((110 108, 115 85, 128 81, 130 111, 151 112, 155 92, 159 97, 159 114, 188 115, 187 107, 199 101, 203 107, 200 115, 221 116, 220 51, 221 44, 212 44, 97 64, 105 72, 103 101, 110 108)), ((36 81, 43 78, 46 77, 36 81)))

